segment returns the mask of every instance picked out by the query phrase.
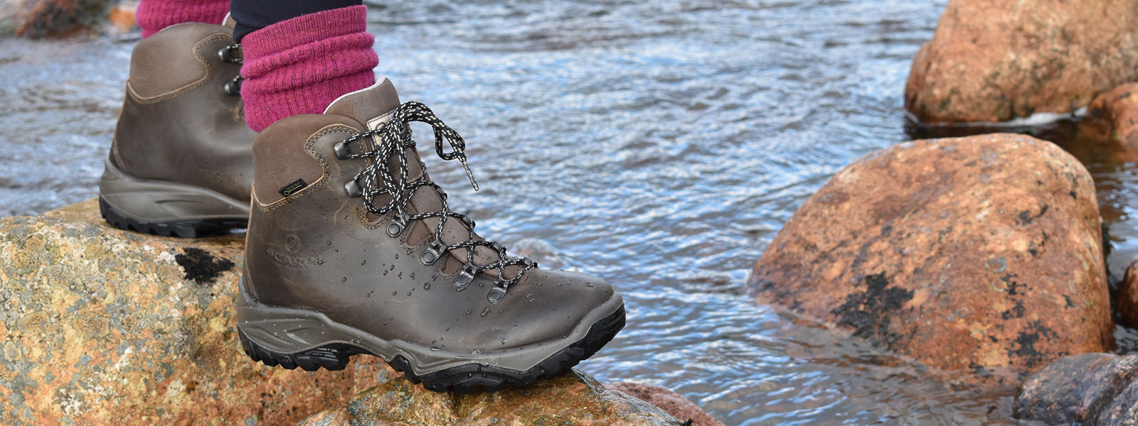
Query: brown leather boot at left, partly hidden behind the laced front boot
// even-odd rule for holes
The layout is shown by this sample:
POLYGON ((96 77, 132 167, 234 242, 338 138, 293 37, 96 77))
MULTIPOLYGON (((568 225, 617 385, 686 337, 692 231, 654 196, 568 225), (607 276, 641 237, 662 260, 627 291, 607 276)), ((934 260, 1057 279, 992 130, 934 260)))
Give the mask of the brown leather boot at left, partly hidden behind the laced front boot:
POLYGON ((121 229, 197 237, 245 227, 253 140, 233 30, 179 24, 139 42, 99 182, 99 209, 121 229))

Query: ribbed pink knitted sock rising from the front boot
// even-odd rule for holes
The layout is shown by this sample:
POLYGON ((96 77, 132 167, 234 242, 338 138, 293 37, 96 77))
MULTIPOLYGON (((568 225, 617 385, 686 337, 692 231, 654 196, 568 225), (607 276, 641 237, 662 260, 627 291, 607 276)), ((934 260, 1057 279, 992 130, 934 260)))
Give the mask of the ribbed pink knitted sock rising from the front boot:
POLYGON ((352 6, 304 15, 241 39, 245 120, 261 132, 297 114, 321 114, 341 94, 376 83, 368 8, 352 6))

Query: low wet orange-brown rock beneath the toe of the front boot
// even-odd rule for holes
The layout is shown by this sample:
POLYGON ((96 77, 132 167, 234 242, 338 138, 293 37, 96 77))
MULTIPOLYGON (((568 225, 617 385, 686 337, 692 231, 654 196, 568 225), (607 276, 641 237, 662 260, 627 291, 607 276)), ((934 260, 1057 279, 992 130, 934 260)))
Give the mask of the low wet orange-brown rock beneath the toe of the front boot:
POLYGON ((523 389, 455 395, 396 378, 347 403, 305 419, 302 426, 348 425, 615 425, 679 426, 683 421, 648 402, 607 391, 572 370, 523 389))

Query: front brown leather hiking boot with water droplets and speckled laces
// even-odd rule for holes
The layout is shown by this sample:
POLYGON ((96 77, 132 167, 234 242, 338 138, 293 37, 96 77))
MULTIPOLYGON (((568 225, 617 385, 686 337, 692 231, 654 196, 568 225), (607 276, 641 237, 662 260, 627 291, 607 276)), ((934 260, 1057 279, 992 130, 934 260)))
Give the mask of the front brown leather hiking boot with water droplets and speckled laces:
POLYGON ((475 234, 429 179, 410 122, 465 166, 462 137, 401 105, 389 81, 257 136, 237 310, 246 353, 306 370, 369 353, 429 390, 471 393, 553 376, 608 343, 625 325, 620 295, 475 234))

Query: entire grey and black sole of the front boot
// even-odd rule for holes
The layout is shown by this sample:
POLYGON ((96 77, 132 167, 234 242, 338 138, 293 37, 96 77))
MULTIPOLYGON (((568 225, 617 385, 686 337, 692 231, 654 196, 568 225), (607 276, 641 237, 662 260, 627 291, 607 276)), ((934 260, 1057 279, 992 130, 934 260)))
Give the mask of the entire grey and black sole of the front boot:
MULTIPOLYGON (((549 353, 549 349, 542 350, 542 344, 486 353, 457 353, 418 348, 402 341, 385 342, 352 327, 336 324, 319 312, 284 308, 238 306, 237 332, 245 353, 254 361, 261 361, 270 367, 281 366, 287 369, 299 367, 307 371, 321 368, 341 370, 347 367, 352 356, 370 354, 379 357, 391 368, 403 371, 409 381, 421 383, 429 391, 450 390, 459 394, 469 394, 496 392, 505 384, 514 387, 527 386, 538 378, 556 376, 592 357, 625 327, 624 302, 617 294, 613 294, 613 300, 610 302, 618 304, 617 308, 607 309, 610 304, 607 303, 605 307, 591 312, 586 319, 600 318, 592 321, 587 332, 579 333, 583 336, 553 353, 549 353), (246 329, 249 333, 246 333, 246 329), (346 339, 308 343, 310 349, 295 352, 273 348, 311 342, 312 337, 316 336, 327 339, 336 335, 346 339), (510 368, 517 365, 529 367, 510 368)), ((588 324, 588 320, 583 323, 588 324)), ((570 336, 574 334, 570 333, 570 336)), ((564 344, 566 340, 543 342, 543 344, 564 344)))

